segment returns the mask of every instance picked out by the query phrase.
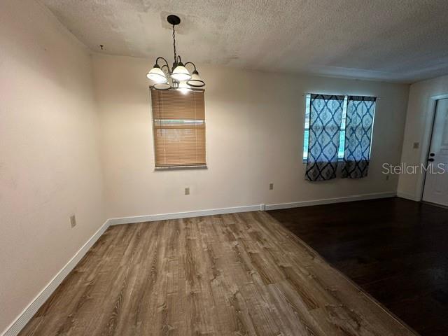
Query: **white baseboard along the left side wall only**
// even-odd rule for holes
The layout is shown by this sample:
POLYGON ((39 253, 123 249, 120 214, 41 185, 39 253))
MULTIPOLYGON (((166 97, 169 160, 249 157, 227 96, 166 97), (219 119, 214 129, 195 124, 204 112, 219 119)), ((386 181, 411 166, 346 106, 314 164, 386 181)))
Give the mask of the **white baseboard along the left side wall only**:
POLYGON ((78 264, 78 262, 83 258, 85 253, 90 250, 93 244, 101 237, 109 228, 109 220, 104 222, 104 224, 94 233, 92 237, 81 247, 78 252, 71 258, 69 262, 66 263, 64 267, 56 274, 56 276, 51 279, 51 281, 43 288, 41 293, 31 301, 31 303, 26 307, 22 313, 11 323, 6 330, 3 331, 1 336, 16 336, 25 327, 31 317, 36 314, 36 311, 48 300, 48 297, 56 290, 57 286, 62 283, 62 280, 71 272, 71 270, 78 264))

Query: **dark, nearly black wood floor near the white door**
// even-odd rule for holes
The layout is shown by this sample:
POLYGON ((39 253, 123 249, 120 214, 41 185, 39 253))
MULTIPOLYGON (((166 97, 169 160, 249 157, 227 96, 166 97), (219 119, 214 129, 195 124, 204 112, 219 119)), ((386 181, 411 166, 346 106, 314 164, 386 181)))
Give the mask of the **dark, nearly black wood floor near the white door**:
POLYGON ((269 214, 421 335, 448 335, 448 209, 389 198, 269 214))

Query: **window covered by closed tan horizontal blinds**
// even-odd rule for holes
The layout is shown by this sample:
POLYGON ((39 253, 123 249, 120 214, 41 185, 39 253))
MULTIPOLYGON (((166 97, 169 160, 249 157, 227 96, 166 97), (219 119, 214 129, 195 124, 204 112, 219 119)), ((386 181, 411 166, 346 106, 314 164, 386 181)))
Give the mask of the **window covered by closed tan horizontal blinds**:
POLYGON ((151 89, 155 167, 204 167, 204 91, 151 89))

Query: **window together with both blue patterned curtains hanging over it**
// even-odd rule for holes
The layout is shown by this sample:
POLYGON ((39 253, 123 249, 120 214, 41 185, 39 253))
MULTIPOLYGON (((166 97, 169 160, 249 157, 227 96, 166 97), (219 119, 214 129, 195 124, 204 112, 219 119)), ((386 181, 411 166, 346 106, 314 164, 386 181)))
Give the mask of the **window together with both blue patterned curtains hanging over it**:
POLYGON ((377 97, 307 94, 302 153, 307 163, 305 179, 367 176, 376 101, 377 97))

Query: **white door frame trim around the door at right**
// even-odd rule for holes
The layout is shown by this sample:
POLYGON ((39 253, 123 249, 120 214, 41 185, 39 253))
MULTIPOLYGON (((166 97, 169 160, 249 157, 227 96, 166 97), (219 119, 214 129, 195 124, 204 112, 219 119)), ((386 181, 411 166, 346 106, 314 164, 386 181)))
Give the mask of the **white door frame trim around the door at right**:
MULTIPOLYGON (((423 165, 425 165, 426 162, 428 161, 431 139, 433 137, 433 126, 434 126, 434 120, 435 120, 435 108, 437 107, 437 100, 447 99, 447 98, 448 98, 448 93, 437 94, 435 96, 429 97, 429 99, 428 99, 427 111, 430 111, 430 113, 428 113, 428 118, 426 118, 425 128, 423 130, 423 141, 421 144, 421 153, 420 153, 420 162, 423 165)), ((417 181, 417 190, 416 190, 417 200, 416 201, 423 200, 425 179, 426 179, 426 172, 423 171, 422 174, 419 174, 419 180, 417 181)))

